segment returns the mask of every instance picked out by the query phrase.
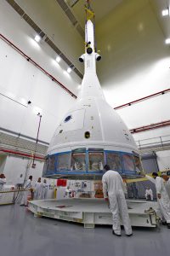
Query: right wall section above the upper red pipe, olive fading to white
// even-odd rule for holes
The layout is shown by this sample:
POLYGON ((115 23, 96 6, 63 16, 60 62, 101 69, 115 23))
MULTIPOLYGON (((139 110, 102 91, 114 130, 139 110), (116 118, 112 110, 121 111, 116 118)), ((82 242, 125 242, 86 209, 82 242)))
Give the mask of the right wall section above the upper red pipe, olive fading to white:
POLYGON ((99 22, 97 35, 99 77, 113 107, 168 88, 169 47, 147 0, 122 2, 99 22))

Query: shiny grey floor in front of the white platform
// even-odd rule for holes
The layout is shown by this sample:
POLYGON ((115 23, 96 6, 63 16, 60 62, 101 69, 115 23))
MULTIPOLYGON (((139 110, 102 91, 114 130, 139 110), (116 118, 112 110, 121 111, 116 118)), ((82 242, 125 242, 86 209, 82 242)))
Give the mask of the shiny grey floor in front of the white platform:
POLYGON ((2 256, 169 256, 170 230, 133 229, 133 236, 116 237, 111 226, 94 230, 50 218, 34 218, 26 207, 0 207, 2 256))

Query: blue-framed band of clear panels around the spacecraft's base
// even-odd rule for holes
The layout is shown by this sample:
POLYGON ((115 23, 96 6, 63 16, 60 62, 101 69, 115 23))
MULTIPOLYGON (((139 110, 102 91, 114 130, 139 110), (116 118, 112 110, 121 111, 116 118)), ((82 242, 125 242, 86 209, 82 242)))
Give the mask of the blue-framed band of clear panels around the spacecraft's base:
POLYGON ((142 166, 138 154, 88 148, 65 153, 48 155, 44 168, 44 177, 57 175, 103 175, 104 166, 125 176, 139 176, 142 166))

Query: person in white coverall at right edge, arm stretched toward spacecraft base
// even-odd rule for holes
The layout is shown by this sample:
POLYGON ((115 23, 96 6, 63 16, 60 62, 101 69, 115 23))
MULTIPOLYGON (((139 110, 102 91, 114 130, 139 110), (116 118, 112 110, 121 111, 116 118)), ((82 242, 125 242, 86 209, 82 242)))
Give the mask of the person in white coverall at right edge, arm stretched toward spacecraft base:
POLYGON ((152 183, 156 185, 156 195, 158 206, 160 207, 162 217, 165 218, 167 222, 167 228, 170 229, 170 199, 167 195, 167 190, 165 188, 164 179, 158 177, 156 172, 152 173, 152 177, 146 175, 152 183))

